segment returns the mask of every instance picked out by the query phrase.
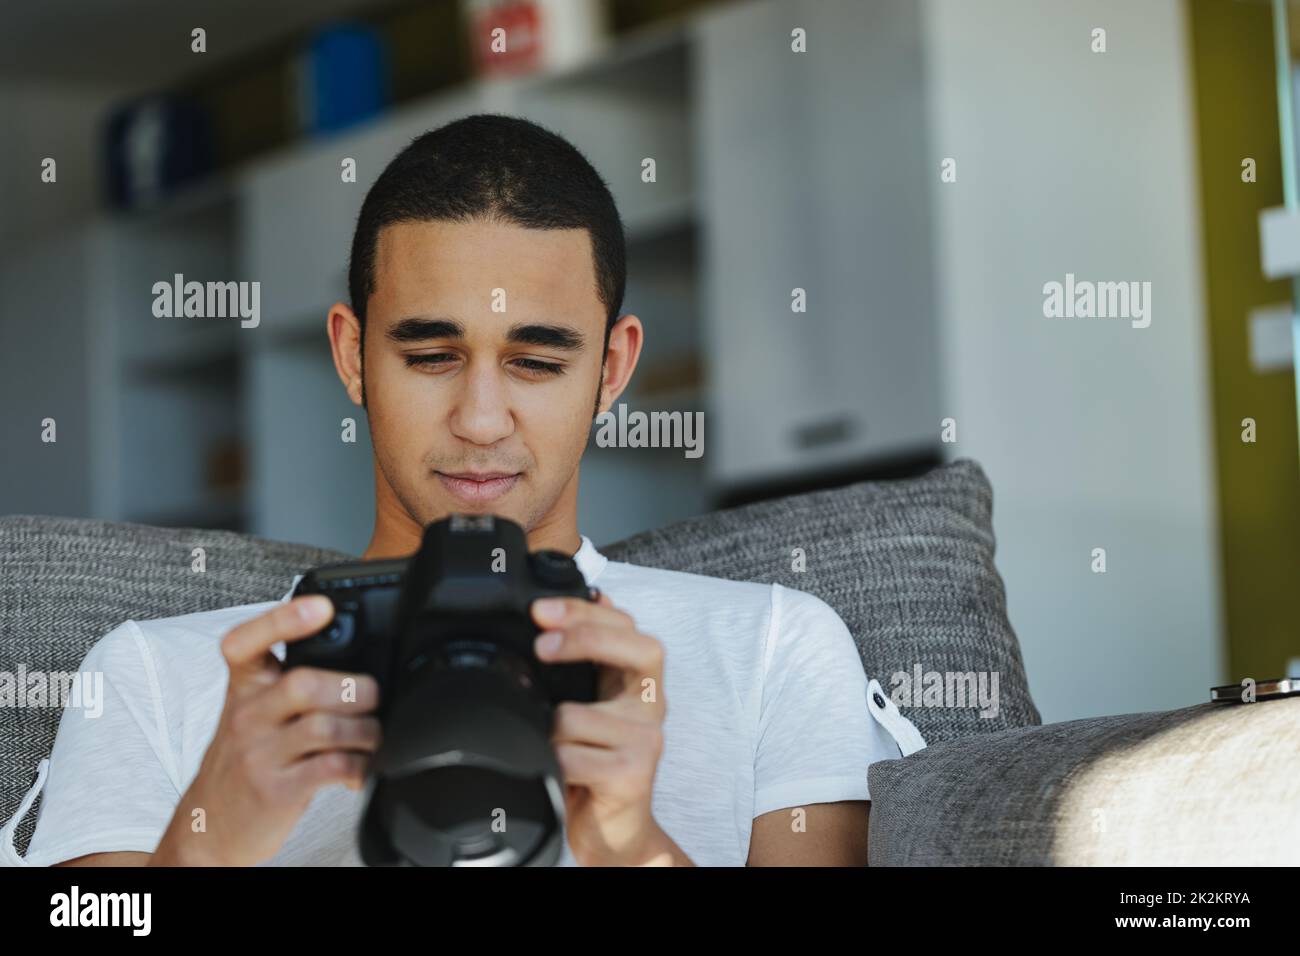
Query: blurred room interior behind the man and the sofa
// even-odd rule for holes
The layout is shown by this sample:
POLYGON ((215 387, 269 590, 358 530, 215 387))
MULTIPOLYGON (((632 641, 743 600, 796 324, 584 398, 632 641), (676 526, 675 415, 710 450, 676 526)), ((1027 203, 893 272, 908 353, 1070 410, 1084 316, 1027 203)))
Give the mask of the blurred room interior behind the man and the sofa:
POLYGON ((593 441, 598 546, 974 458, 1045 721, 1297 674, 1295 7, 5 4, 0 511, 364 549, 325 308, 387 160, 504 112, 620 206, 624 401, 705 412, 701 458, 593 441), (176 273, 259 326, 155 319, 176 273), (1150 282, 1149 328, 1045 317, 1067 274, 1150 282))

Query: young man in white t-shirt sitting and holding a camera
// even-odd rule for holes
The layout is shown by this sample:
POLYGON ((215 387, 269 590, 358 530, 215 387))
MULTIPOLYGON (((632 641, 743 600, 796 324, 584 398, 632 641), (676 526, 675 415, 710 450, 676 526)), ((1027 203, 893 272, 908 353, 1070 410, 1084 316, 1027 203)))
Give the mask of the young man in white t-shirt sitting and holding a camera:
MULTIPOLYGON (((552 133, 471 116, 393 160, 358 220, 351 306, 328 319, 374 447, 363 557, 411 554, 448 512, 494 512, 602 592, 533 605, 542 659, 602 669, 601 700, 555 715, 562 865, 863 865, 867 766, 900 748, 835 611, 611 562, 578 533, 593 416, 641 351, 624 274, 612 196, 552 133)), ((359 862, 377 688, 358 675, 341 702, 337 672, 282 671, 283 643, 330 613, 287 598, 126 622, 91 649, 104 713, 65 713, 25 862, 359 862)), ((0 853, 23 862, 16 822, 0 853)))

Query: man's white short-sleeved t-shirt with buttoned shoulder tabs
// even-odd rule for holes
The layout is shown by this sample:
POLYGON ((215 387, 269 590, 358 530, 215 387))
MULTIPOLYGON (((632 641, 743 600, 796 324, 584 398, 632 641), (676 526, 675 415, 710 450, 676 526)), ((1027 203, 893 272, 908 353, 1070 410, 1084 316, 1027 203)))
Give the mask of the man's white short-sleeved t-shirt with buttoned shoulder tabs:
MULTIPOLYGON (((820 598, 608 561, 585 536, 575 558, 588 584, 664 645, 668 708, 651 812, 697 865, 742 866, 755 817, 868 800, 868 765, 924 747, 820 598)), ((127 620, 100 639, 81 670, 104 675, 101 713, 65 708, 53 752, 0 830, 0 862, 152 852, 216 732, 228 680, 221 637, 274 605, 127 620), (42 787, 23 858, 13 831, 42 787)), ((283 645, 274 652, 282 658, 283 645)), ((268 864, 361 865, 363 810, 364 791, 322 787, 268 864)), ((559 865, 576 865, 567 842, 559 865)))

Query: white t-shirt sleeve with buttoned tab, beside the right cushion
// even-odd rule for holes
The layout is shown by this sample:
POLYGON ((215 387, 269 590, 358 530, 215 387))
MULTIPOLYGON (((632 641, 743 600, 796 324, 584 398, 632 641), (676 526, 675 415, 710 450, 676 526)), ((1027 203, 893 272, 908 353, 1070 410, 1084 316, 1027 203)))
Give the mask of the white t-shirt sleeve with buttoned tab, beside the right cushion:
POLYGON ((754 816, 870 800, 867 767, 901 756, 867 706, 867 675, 840 615, 772 585, 754 756, 754 816))

